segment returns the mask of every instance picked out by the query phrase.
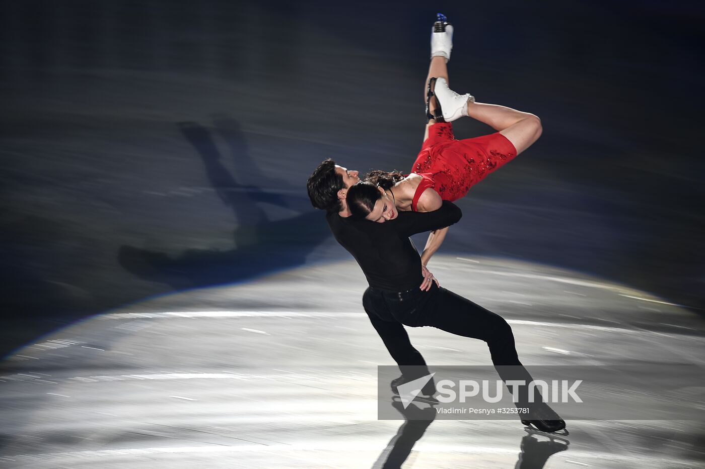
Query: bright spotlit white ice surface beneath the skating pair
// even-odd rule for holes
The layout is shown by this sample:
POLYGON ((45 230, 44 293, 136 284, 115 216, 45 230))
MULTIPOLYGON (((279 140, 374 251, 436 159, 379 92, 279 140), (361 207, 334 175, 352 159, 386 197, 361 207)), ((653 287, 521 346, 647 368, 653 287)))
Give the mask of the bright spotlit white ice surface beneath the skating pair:
MULTIPOLYGON (((493 258, 439 256, 431 268, 443 286, 508 319, 525 365, 704 365, 702 323, 624 285, 493 258)), ((702 467, 701 422, 568 421, 567 444, 531 436, 518 420, 436 420, 422 425, 425 433, 404 420, 377 420, 376 365, 393 362, 362 311, 364 287, 353 261, 298 268, 152 299, 44 337, 3 364, 0 461, 6 468, 381 468, 404 459, 405 468, 541 468, 546 460, 546 468, 702 467), (268 306, 253 309, 263 297, 268 306)), ((490 363, 484 342, 407 330, 431 366, 490 363)), ((704 405, 701 393, 692 405, 704 405)))

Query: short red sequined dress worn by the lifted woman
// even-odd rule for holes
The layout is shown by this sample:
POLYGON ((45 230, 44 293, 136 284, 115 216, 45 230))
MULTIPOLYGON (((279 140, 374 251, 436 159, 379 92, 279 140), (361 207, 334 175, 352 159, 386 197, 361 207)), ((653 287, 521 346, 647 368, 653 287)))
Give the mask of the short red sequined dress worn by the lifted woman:
POLYGON ((443 200, 458 200, 470 187, 515 156, 514 145, 499 132, 456 140, 450 123, 431 125, 429 137, 411 168, 412 173, 423 178, 414 194, 412 210, 417 210, 419 197, 425 189, 433 187, 443 200))

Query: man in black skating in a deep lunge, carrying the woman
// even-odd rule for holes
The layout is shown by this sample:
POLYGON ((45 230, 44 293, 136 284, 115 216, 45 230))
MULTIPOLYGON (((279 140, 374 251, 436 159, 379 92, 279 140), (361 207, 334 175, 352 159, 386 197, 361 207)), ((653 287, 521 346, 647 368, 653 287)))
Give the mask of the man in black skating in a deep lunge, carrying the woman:
MULTIPOLYGON (((414 369, 410 366, 426 366, 403 325, 430 325, 482 339, 489 346, 494 365, 515 365, 513 370, 524 370, 517 356, 512 329, 501 316, 439 287, 432 275, 422 278, 421 257, 409 236, 457 223, 462 216, 460 208, 443 201, 439 210, 400 212, 386 223, 354 218, 350 216, 345 198, 353 187, 351 183, 358 180, 357 172, 336 165, 329 158, 309 177, 307 190, 313 206, 327 212, 326 221, 333 236, 353 254, 367 277, 369 287, 362 296, 364 311, 398 363, 403 382, 418 377, 418 373, 410 373, 414 369)), ((504 381, 524 380, 527 384, 532 380, 525 370, 519 375, 506 375, 500 370, 500 376, 504 381)), ((429 384, 422 389, 425 394, 434 393, 432 382, 429 384)), ((517 406, 528 406, 526 398, 527 393, 520 392, 517 406)), ((522 420, 522 423, 532 424, 543 432, 565 428, 565 422, 543 403, 532 406, 531 420, 522 420)))

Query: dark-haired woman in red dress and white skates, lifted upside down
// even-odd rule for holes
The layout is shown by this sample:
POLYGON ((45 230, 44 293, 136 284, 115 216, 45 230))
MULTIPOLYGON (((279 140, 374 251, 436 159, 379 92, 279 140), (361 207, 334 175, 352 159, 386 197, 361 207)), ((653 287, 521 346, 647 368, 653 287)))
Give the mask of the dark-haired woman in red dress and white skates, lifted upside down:
MULTIPOLYGON (((541 136, 541 120, 530 113, 496 104, 476 103, 470 94, 448 87, 446 63, 453 49, 453 26, 439 13, 431 33, 431 65, 425 82, 428 123, 424 143, 409 175, 374 170, 348 192, 353 215, 384 223, 398 211, 434 211, 443 200, 455 201, 470 187, 525 151, 541 136), (462 116, 479 120, 498 132, 457 140, 450 124, 462 116)), ((439 248, 448 228, 431 232, 422 265, 439 248)))

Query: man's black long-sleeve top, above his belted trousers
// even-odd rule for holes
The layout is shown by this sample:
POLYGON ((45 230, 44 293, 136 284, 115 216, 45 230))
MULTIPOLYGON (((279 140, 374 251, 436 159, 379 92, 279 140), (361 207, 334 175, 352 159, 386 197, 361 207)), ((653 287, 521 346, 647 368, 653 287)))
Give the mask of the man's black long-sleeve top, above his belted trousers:
POLYGON ((421 258, 409 237, 457 223, 460 208, 448 201, 432 212, 399 212, 394 220, 375 223, 328 213, 326 220, 338 243, 353 254, 370 287, 393 292, 418 288, 421 258))

